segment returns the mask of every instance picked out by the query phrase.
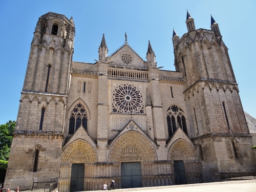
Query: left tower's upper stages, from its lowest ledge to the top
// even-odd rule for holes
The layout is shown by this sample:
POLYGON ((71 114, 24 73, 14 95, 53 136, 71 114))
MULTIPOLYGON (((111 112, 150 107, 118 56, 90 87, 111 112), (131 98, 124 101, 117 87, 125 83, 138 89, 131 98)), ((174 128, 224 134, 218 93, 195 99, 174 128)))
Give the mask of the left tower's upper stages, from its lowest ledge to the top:
POLYGON ((17 131, 62 132, 74 36, 72 17, 52 12, 39 17, 31 42, 17 131))

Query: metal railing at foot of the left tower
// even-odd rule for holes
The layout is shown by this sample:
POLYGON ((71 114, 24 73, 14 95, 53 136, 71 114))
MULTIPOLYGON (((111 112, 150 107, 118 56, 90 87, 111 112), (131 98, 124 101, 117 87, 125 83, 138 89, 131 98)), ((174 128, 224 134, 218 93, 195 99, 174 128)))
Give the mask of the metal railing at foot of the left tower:
POLYGON ((51 192, 58 187, 58 178, 51 179, 51 181, 34 181, 32 185, 33 189, 44 189, 44 192, 51 192))

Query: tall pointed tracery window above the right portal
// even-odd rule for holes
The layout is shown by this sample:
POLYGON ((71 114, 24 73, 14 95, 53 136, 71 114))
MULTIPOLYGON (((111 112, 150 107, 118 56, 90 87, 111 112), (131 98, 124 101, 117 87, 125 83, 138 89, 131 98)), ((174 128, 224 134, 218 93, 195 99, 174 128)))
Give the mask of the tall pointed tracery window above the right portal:
POLYGON ((184 112, 177 105, 172 105, 167 111, 167 127, 168 136, 172 136, 177 127, 181 127, 183 132, 187 135, 187 125, 184 112))

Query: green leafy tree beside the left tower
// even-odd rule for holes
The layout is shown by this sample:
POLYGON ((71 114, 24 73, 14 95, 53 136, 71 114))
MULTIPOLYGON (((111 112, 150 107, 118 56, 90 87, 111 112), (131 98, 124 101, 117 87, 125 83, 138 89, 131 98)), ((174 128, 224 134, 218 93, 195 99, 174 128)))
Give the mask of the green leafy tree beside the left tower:
POLYGON ((9 159, 15 123, 9 120, 6 124, 0 125, 0 160, 8 161, 9 159))

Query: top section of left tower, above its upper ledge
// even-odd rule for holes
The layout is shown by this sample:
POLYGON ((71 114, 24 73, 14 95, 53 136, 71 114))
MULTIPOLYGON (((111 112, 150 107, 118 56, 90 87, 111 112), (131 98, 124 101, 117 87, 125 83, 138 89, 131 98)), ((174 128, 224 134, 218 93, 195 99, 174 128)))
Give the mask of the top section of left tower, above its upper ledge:
POLYGON ((72 17, 49 12, 38 19, 23 91, 67 95, 74 36, 72 17))

